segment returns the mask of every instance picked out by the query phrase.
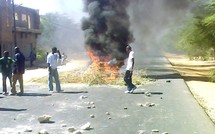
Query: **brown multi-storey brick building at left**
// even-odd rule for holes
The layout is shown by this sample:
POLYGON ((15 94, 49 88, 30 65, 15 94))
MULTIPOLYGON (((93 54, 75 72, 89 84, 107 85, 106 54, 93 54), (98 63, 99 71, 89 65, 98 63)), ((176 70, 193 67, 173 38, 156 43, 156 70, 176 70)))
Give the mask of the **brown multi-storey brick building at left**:
POLYGON ((41 34, 39 25, 38 10, 13 5, 12 0, 0 0, 0 55, 4 50, 13 54, 14 47, 18 46, 29 56, 36 50, 36 40, 41 34))

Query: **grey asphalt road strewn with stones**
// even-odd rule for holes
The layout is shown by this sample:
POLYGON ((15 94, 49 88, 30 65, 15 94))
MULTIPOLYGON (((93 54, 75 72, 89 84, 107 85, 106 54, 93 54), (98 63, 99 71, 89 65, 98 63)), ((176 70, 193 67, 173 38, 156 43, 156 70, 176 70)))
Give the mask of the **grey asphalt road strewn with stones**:
POLYGON ((69 127, 79 130, 88 122, 91 129, 82 133, 215 133, 214 124, 183 79, 171 70, 168 60, 143 57, 136 67, 146 68, 147 77, 156 81, 138 87, 134 94, 125 94, 125 87, 84 85, 62 85, 63 93, 50 94, 46 85, 26 84, 24 96, 0 95, 0 134, 35 134, 42 129, 50 134, 64 134, 69 127), (86 98, 81 99, 83 96, 86 98), (44 114, 52 116, 53 122, 39 123, 37 118, 44 114), (23 132, 29 127, 32 132, 23 132))

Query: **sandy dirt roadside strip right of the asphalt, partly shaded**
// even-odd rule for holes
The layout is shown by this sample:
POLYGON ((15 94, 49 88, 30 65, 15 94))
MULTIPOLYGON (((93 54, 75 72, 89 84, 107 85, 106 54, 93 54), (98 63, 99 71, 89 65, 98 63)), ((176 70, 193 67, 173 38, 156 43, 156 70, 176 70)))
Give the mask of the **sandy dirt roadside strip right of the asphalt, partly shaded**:
POLYGON ((215 83, 209 82, 215 61, 191 61, 185 55, 166 53, 174 70, 185 80, 191 93, 215 123, 215 83))

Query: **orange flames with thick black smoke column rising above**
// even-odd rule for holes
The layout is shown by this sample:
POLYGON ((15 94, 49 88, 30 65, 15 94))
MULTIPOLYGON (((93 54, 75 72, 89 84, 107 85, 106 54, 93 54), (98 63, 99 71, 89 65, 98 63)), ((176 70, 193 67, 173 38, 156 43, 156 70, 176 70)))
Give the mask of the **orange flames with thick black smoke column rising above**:
POLYGON ((126 46, 133 41, 126 8, 128 0, 84 0, 89 17, 83 18, 85 47, 92 61, 90 71, 111 72, 116 78, 126 59, 126 46), (93 69, 93 70, 92 70, 93 69))

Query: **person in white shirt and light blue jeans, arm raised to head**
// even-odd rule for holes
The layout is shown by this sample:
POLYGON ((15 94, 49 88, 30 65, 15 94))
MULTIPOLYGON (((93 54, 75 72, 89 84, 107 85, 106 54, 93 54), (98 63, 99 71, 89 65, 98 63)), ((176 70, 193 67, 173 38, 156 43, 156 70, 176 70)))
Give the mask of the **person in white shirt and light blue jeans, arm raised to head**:
POLYGON ((53 92, 53 77, 55 79, 56 83, 56 91, 61 92, 61 86, 60 86, 60 80, 59 80, 59 75, 57 71, 57 65, 58 65, 58 60, 61 59, 61 54, 60 51, 57 50, 56 47, 52 48, 52 52, 48 54, 47 56, 47 63, 48 63, 48 86, 49 86, 49 91, 53 92))

